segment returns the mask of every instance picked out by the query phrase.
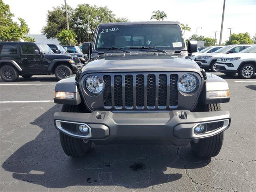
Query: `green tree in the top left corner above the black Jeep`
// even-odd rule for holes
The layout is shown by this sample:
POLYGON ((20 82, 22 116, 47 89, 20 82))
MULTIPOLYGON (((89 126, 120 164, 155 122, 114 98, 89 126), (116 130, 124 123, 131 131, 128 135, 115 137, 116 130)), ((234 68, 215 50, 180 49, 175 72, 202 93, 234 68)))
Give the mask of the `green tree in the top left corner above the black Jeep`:
POLYGON ((34 38, 27 36, 29 28, 26 22, 18 18, 18 24, 12 20, 13 17, 10 6, 0 0, 0 41, 34 41, 34 38))

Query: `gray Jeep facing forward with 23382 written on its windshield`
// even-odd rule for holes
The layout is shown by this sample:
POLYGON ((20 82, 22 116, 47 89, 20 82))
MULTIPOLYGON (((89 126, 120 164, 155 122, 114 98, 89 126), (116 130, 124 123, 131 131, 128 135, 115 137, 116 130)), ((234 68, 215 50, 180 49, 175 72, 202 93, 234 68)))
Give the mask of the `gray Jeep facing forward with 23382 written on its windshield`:
POLYGON ((100 24, 94 45, 83 43, 88 63, 60 80, 54 114, 68 156, 94 144, 191 144, 200 157, 216 156, 231 115, 228 84, 188 57, 179 22, 100 24))

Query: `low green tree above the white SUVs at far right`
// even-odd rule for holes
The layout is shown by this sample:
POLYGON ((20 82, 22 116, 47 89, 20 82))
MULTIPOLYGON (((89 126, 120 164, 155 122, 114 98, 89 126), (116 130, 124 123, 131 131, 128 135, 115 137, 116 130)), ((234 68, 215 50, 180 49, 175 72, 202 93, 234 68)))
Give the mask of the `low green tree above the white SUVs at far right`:
POLYGON ((248 32, 239 33, 239 34, 231 34, 230 39, 225 42, 226 45, 231 44, 253 44, 253 40, 250 38, 250 34, 248 32))

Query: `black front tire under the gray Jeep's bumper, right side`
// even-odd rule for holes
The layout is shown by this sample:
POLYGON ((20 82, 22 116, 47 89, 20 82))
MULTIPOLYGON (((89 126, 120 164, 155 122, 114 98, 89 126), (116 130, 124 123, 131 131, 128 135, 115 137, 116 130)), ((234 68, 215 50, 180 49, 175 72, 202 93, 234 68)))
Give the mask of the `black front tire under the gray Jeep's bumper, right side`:
MULTIPOLYGON (((202 107, 203 111, 221 111, 220 104, 207 104, 202 107)), ((198 142, 191 141, 191 147, 199 157, 210 158, 219 154, 222 147, 224 132, 212 137, 200 139, 198 142)))

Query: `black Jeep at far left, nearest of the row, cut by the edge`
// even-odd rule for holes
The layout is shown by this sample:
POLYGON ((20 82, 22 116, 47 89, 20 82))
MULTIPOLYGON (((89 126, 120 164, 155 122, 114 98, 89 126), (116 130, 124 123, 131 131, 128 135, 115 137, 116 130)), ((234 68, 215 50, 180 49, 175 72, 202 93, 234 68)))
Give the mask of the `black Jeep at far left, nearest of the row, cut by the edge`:
POLYGON ((58 80, 82 69, 77 56, 54 54, 46 44, 34 42, 0 42, 0 76, 14 82, 19 75, 55 74, 58 80))

